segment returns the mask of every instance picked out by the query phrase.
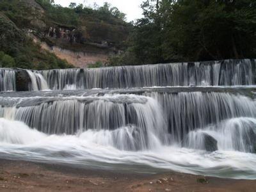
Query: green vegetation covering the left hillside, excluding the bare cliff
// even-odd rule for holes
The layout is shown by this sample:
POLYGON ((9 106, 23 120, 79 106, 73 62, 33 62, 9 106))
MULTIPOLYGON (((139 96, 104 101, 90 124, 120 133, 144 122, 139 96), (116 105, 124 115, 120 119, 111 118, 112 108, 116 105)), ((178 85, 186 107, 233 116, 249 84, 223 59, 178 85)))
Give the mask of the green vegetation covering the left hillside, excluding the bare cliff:
MULTIPOLYGON (((118 25, 127 26, 125 14, 108 3, 95 8, 71 3, 69 8, 65 8, 54 4, 52 0, 1 0, 0 67, 33 69, 72 67, 67 61, 60 60, 54 54, 40 49, 40 45, 33 42, 33 39, 27 35, 28 29, 33 30, 33 34, 38 35, 38 38, 50 46, 56 45, 58 41, 54 42, 45 37, 45 31, 56 26, 77 29, 78 32, 81 31, 80 28, 86 26, 86 31, 82 32, 90 34, 90 43, 101 42, 102 38, 108 38, 109 34, 114 34, 109 41, 121 44, 122 42, 118 40, 122 39, 126 32, 123 32, 125 29, 120 31, 118 25), (96 32, 93 31, 95 29, 97 29, 96 32), (105 33, 109 31, 109 33, 101 34, 100 30, 105 33)), ((62 45, 72 49, 72 45, 68 42, 63 42, 60 47, 62 45)), ((76 47, 82 49, 83 44, 76 47)), ((97 51, 97 47, 92 46, 92 48, 97 51)))

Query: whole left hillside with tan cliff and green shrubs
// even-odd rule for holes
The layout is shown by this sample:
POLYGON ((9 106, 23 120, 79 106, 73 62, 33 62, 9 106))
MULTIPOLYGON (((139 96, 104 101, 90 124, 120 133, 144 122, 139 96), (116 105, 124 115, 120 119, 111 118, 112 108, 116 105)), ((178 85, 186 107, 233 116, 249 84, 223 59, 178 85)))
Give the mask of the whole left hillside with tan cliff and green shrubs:
POLYGON ((124 14, 109 4, 63 8, 47 0, 2 0, 0 66, 47 69, 105 63, 125 49, 130 30, 124 14), (3 61, 6 56, 12 62, 3 61))

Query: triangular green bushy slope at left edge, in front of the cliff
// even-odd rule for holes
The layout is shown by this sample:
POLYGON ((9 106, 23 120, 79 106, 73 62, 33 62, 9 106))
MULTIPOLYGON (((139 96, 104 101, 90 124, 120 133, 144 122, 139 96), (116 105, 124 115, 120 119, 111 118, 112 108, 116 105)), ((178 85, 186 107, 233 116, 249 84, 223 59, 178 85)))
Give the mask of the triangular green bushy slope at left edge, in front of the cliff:
POLYGON ((72 67, 54 54, 42 51, 12 21, 0 14, 0 66, 31 69, 72 67))

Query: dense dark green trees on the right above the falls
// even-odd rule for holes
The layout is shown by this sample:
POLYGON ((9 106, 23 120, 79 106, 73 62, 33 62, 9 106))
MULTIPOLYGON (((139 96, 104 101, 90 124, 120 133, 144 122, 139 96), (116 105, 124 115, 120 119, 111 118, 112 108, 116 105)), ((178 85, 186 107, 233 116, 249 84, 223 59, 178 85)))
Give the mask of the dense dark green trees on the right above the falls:
POLYGON ((144 1, 128 49, 109 65, 256 57, 256 1, 144 1))

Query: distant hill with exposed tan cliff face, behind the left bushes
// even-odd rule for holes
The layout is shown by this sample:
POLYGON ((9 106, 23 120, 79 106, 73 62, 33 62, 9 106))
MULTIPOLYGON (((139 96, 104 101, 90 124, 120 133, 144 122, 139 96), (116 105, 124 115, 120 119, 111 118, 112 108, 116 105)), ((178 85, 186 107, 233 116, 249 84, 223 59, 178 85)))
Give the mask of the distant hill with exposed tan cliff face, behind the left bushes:
MULTIPOLYGON (((76 24, 65 24, 65 20, 60 23, 38 2, 40 1, 13 0, 12 3, 22 5, 20 12, 23 11, 24 14, 22 13, 20 20, 19 17, 15 18, 17 15, 10 19, 19 29, 32 36, 42 50, 52 52, 74 67, 86 67, 97 61, 106 63, 110 55, 118 54, 124 48, 122 42, 125 42, 129 35, 129 24, 119 21, 106 22, 79 13, 76 24)), ((0 11, 6 17, 12 15, 12 10, 0 11)))

